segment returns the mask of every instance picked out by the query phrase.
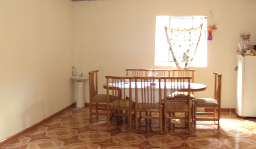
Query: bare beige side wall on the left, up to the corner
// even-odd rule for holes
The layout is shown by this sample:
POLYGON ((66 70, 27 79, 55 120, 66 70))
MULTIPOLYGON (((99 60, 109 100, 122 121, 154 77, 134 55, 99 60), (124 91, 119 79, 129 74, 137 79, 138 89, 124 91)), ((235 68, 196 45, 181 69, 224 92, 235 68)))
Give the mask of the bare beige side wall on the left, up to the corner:
POLYGON ((0 140, 74 102, 70 0, 0 0, 0 140))

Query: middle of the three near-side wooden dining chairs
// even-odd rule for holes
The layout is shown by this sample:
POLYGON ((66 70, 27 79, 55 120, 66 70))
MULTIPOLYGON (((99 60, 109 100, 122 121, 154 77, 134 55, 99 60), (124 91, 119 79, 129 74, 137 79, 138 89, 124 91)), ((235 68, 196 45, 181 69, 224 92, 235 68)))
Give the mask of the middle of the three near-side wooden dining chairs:
POLYGON ((162 95, 161 88, 158 89, 154 85, 160 86, 160 80, 162 77, 134 77, 135 79, 135 126, 138 131, 138 121, 141 118, 146 119, 159 119, 159 129, 160 134, 162 134, 163 122, 162 122, 162 95), (138 103, 138 98, 141 99, 141 102, 138 103), (156 102, 158 100, 158 102, 156 102), (160 102, 159 102, 160 101, 160 102), (138 112, 145 112, 146 116, 138 118, 138 112), (150 112, 158 112, 159 116, 151 116, 150 112))

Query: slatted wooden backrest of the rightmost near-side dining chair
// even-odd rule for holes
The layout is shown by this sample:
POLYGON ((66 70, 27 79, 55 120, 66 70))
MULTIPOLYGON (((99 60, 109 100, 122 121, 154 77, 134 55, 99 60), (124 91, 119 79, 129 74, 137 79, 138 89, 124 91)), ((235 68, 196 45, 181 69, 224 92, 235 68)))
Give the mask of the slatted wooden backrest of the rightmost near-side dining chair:
POLYGON ((168 103, 171 109, 185 109, 185 104, 189 101, 190 106, 190 80, 191 77, 163 77, 164 80, 164 103, 168 103), (185 92, 187 94, 185 94, 185 92), (175 95, 177 94, 177 95, 175 95))

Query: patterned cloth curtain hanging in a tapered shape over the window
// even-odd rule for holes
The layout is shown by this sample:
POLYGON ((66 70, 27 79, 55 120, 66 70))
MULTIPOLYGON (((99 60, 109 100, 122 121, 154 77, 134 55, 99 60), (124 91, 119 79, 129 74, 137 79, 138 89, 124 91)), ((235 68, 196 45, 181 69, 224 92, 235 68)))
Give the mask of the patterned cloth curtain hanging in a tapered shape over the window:
POLYGON ((194 59, 201 37, 202 26, 193 29, 170 29, 165 27, 169 50, 178 69, 188 69, 194 59))

